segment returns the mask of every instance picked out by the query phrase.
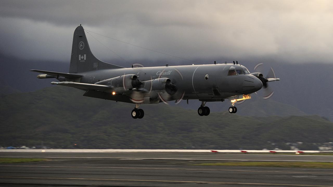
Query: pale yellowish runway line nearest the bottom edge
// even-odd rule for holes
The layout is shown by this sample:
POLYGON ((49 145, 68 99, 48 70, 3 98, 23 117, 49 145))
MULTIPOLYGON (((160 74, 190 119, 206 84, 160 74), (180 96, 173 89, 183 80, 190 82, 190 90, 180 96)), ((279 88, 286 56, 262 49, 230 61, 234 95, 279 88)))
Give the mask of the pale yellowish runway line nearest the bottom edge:
MULTIPOLYGON (((128 182, 168 182, 168 183, 201 183, 201 184, 243 184, 243 185, 263 185, 263 186, 304 186, 304 187, 333 187, 323 185, 303 185, 303 184, 271 184, 271 183, 242 183, 242 182, 209 182, 209 181, 175 181, 175 180, 140 180, 140 179, 98 179, 98 178, 58 178, 58 177, 6 177, 14 179, 67 179, 67 180, 100 180, 100 181, 128 181, 128 182)), ((19 184, 19 183, 18 183, 19 184)))

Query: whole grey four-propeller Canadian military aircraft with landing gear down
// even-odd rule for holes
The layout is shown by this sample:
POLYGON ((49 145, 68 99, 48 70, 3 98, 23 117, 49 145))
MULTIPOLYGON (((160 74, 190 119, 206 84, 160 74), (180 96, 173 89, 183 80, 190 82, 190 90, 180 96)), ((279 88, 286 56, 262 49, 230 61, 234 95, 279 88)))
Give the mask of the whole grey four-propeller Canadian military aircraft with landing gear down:
POLYGON ((98 60, 90 51, 85 30, 80 25, 74 31, 69 73, 30 70, 43 73, 39 79, 56 78, 62 85, 86 91, 84 96, 134 103, 133 118, 142 118, 140 104, 174 100, 199 99, 200 116, 208 115, 206 102, 229 99, 230 113, 236 113, 235 102, 251 98, 250 94, 268 82, 279 81, 264 78, 261 73, 249 73, 248 69, 233 64, 210 64, 164 67, 124 68, 98 60))

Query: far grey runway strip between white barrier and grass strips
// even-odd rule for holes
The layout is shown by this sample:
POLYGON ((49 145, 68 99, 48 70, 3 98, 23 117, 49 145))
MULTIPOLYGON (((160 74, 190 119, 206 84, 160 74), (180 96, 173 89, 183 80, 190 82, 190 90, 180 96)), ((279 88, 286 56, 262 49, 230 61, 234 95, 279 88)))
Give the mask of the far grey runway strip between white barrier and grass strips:
MULTIPOLYGON (((46 149, 47 151, 47 149, 46 149)), ((193 159, 193 160, 265 160, 265 161, 320 161, 333 162, 333 156, 274 155, 274 154, 223 154, 188 152, 145 152, 145 153, 64 153, 64 152, 0 152, 0 157, 42 157, 42 158, 110 158, 110 159, 193 159)))

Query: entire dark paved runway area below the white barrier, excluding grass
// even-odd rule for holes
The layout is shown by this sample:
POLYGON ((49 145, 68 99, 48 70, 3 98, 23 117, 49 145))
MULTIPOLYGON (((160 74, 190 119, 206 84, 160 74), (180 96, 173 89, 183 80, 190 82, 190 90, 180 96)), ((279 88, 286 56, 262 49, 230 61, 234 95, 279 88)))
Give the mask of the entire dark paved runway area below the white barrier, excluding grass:
POLYGON ((234 160, 333 161, 332 156, 47 152, 0 156, 52 157, 47 162, 0 164, 0 186, 333 187, 333 169, 193 165, 234 160))

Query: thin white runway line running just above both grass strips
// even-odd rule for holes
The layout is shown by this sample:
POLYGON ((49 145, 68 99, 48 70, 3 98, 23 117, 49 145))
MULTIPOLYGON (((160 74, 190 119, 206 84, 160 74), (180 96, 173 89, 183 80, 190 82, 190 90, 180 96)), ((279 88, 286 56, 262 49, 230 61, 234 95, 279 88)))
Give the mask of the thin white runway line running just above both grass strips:
POLYGON ((281 162, 333 162, 333 161, 311 161, 311 160, 243 160, 243 159, 196 159, 196 158, 117 158, 117 157, 55 157, 55 156, 0 156, 0 158, 109 158, 109 159, 141 159, 141 160, 217 160, 217 161, 281 161, 281 162))

